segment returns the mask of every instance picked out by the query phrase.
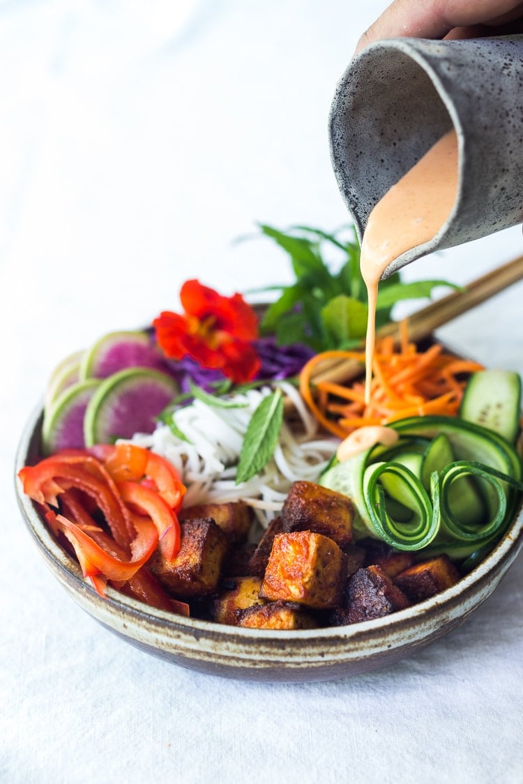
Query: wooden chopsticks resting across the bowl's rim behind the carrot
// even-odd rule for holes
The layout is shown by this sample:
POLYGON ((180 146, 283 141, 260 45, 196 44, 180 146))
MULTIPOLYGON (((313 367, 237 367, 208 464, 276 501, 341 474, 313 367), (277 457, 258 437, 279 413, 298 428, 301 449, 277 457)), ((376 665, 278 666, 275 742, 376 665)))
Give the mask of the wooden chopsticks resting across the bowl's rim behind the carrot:
MULTIPOLYGON (((503 289, 523 279, 523 256, 518 256, 502 267, 477 278, 461 291, 452 292, 448 296, 430 303, 427 307, 409 316, 409 338, 414 343, 428 338, 438 327, 466 313, 486 299, 495 296, 503 289)), ((393 336, 399 341, 398 322, 391 321, 376 332, 378 338, 393 336)), ((342 382, 361 375, 361 362, 354 360, 325 360, 321 363, 312 380, 342 382)))

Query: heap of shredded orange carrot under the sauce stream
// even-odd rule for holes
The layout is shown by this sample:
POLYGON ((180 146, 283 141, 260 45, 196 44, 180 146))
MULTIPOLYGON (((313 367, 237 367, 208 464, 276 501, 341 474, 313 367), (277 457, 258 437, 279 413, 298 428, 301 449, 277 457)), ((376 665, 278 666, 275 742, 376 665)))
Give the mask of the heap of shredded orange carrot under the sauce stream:
POLYGON ((300 392, 326 430, 344 438, 357 427, 408 416, 457 416, 468 376, 483 365, 458 359, 438 343, 419 350, 409 342, 406 320, 400 324, 398 344, 391 336, 376 343, 368 405, 361 379, 343 384, 329 380, 329 369, 323 370, 340 360, 361 362, 363 368, 364 351, 324 351, 307 362, 300 373, 300 392))

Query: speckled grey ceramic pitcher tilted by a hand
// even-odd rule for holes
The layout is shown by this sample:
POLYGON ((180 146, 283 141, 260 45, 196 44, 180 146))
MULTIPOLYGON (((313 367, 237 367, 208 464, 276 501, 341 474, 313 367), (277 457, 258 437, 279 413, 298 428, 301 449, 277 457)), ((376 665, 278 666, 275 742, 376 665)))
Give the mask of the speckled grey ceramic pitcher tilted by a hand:
POLYGON ((523 35, 394 38, 364 49, 340 79, 329 118, 332 165, 360 240, 376 202, 452 125, 456 205, 438 234, 384 277, 523 222, 523 35))

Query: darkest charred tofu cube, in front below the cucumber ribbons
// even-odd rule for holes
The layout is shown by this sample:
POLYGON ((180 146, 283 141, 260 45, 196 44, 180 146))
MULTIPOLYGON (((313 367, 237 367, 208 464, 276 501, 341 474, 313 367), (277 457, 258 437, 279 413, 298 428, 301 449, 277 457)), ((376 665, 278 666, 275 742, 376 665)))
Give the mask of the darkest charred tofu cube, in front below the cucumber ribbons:
POLYGON ((410 601, 379 566, 358 569, 347 583, 347 604, 333 622, 359 623, 409 607, 410 601))

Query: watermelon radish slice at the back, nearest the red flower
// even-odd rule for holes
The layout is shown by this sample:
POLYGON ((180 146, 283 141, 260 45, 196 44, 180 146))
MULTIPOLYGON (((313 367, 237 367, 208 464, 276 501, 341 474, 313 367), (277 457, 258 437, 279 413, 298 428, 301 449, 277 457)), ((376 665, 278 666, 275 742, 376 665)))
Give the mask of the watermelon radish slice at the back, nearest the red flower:
POLYGON ((109 332, 86 350, 80 366, 81 379, 107 379, 125 368, 165 370, 165 362, 147 332, 109 332))

